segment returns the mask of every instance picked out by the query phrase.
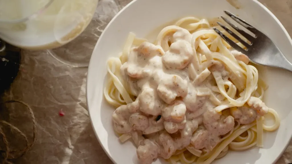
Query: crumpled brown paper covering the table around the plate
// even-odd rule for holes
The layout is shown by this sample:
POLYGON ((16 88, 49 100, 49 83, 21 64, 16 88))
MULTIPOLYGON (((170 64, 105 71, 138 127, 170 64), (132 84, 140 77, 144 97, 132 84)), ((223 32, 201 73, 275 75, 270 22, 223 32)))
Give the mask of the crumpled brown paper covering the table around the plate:
MULTIPOLYGON (((29 104, 37 119, 37 140, 32 150, 15 164, 110 164, 95 137, 86 108, 87 66, 107 23, 131 0, 100 0, 90 25, 71 43, 53 50, 22 51, 20 72, 3 100, 29 104), (59 116, 63 111, 65 116, 59 116)), ((259 0, 277 16, 292 34, 292 0, 259 0)), ((32 139, 32 121, 17 104, 6 105, 0 119, 6 119, 32 139)), ((14 146, 23 139, 11 134, 14 146)), ((292 162, 292 143, 277 164, 292 162)))

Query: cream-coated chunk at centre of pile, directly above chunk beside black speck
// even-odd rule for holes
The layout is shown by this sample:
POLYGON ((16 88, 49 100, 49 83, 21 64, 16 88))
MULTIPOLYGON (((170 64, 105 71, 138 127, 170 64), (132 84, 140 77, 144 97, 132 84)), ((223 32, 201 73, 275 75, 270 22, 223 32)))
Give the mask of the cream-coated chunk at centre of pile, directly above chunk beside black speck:
POLYGON ((176 97, 185 97, 187 95, 187 81, 180 76, 171 75, 161 80, 157 92, 164 102, 171 104, 176 97))

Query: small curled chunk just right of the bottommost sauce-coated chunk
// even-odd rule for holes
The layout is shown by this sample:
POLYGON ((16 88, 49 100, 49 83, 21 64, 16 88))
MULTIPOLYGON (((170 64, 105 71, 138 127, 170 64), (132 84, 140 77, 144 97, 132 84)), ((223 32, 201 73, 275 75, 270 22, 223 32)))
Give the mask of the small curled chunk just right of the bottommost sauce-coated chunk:
POLYGON ((156 142, 161 147, 159 156, 162 158, 168 159, 175 153, 175 142, 167 132, 162 132, 156 142))

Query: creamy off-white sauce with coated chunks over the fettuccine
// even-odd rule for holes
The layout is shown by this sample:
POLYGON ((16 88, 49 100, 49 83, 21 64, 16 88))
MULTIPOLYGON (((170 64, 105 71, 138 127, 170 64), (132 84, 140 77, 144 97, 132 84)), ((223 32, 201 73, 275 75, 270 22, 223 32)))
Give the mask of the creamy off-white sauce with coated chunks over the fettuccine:
MULTIPOLYGON (((227 81, 230 74, 224 64, 211 60, 199 68, 203 69, 201 76, 192 77, 191 39, 189 31, 180 29, 165 37, 171 46, 144 42, 131 49, 121 66, 127 87, 137 98, 114 111, 114 130, 131 134, 142 164, 159 156, 168 159, 189 145, 210 151, 233 131, 234 121, 249 124, 268 111, 260 99, 251 97, 248 105, 216 112, 214 108, 225 97, 215 78, 227 81)), ((248 63, 246 55, 232 53, 248 63)))

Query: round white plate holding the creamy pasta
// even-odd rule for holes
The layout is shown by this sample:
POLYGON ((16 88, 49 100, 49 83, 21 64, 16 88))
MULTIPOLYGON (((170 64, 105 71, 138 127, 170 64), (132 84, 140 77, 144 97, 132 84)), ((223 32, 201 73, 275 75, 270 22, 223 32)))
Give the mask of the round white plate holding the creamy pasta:
MULTIPOLYGON (((292 41, 279 20, 258 1, 238 0, 238 3, 240 9, 234 8, 226 0, 134 0, 109 23, 91 56, 86 93, 95 134, 114 163, 138 163, 136 147, 131 142, 120 144, 114 134, 111 121, 114 107, 108 105, 103 97, 107 58, 118 55, 129 32, 134 32, 138 37, 145 37, 157 27, 181 17, 214 18, 224 15, 223 10, 229 10, 267 34, 288 60, 292 61, 292 41)), ((265 95, 265 102, 279 113, 281 118, 279 130, 265 133, 263 148, 230 151, 214 163, 275 163, 285 151, 292 135, 292 74, 280 69, 263 68, 260 69, 260 75, 265 75, 265 81, 270 86, 265 95)), ((164 162, 163 160, 154 162, 159 163, 164 162)))

